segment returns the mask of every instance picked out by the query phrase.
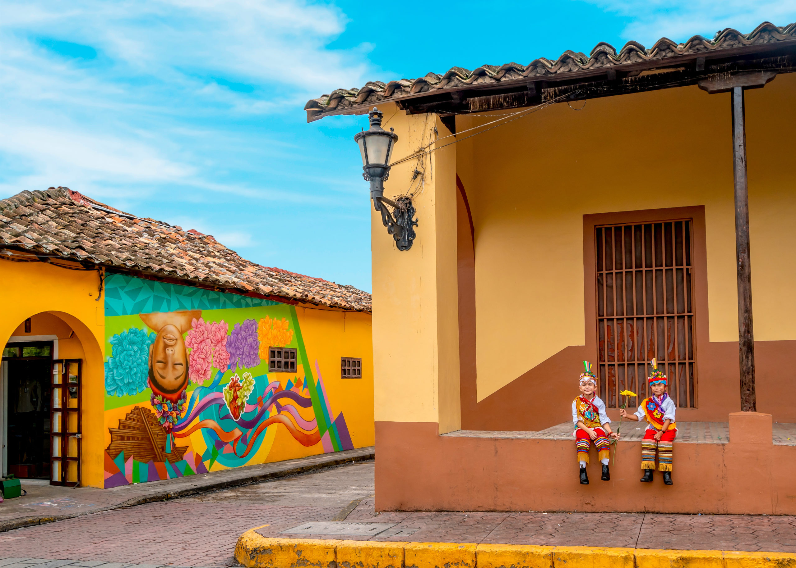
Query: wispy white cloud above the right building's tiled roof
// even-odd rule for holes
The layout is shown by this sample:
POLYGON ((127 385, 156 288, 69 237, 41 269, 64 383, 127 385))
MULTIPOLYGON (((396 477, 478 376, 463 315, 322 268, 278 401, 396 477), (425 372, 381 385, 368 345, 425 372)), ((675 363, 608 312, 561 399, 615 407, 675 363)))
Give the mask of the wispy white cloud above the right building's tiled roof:
POLYGON ((796 21, 796 0, 587 0, 631 18, 623 37, 650 47, 661 37, 686 41, 696 34, 712 38, 724 28, 749 33, 763 21, 787 25, 796 21))

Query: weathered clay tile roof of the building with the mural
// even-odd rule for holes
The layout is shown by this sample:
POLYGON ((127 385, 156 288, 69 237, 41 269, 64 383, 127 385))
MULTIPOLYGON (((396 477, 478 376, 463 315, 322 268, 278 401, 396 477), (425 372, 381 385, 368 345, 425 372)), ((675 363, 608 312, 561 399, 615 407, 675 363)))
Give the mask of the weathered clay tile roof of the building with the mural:
MULTIPOLYGON (((0 247, 42 258, 134 270, 241 294, 256 292, 354 311, 370 294, 241 258, 211 235, 142 219, 68 188, 23 191, 0 200, 0 247)), ((276 298, 275 298, 276 299, 276 298)))

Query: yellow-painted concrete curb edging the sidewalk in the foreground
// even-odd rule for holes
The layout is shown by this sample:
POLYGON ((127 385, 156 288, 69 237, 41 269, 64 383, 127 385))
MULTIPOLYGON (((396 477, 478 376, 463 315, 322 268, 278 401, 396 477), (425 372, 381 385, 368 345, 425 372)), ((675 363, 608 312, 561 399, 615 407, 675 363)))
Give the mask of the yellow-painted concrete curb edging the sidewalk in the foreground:
POLYGON ((268 539, 255 529, 235 558, 247 568, 796 568, 796 554, 781 552, 268 539))

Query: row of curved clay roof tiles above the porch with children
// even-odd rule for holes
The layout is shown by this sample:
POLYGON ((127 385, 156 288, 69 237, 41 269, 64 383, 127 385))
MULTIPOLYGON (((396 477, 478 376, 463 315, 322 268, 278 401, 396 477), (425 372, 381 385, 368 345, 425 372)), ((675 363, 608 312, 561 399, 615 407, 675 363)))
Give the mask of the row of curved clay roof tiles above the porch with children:
MULTIPOLYGON (((470 71, 461 67, 449 69, 443 75, 427 73, 417 79, 401 79, 382 83, 371 81, 362 88, 336 89, 330 95, 310 99, 304 106, 307 122, 321 119, 325 115, 359 114, 357 107, 365 112, 373 104, 389 102, 421 93, 435 94, 444 89, 464 88, 470 85, 497 84, 504 81, 553 77, 564 78, 567 73, 595 68, 636 64, 644 61, 660 60, 661 65, 672 63, 672 58, 696 54, 715 53, 747 45, 771 44, 779 41, 796 40, 796 23, 777 27, 771 22, 763 22, 751 33, 743 34, 736 29, 727 28, 716 33, 712 40, 694 36, 689 41, 677 44, 661 37, 646 49, 638 41, 628 41, 618 52, 610 44, 601 41, 589 55, 565 51, 553 60, 540 58, 527 65, 507 63, 504 65, 482 65, 470 71), (346 112, 349 111, 349 112, 346 112)), ((730 53, 730 52, 727 52, 730 53)))

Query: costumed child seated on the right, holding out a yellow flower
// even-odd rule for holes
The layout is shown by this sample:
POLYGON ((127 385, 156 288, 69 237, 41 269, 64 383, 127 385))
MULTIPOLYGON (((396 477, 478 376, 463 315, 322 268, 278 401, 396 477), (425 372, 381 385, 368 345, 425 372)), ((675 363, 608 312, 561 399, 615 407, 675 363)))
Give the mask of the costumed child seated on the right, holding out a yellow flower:
POLYGON ((628 414, 624 408, 619 409, 619 414, 628 420, 645 418, 647 421, 642 440, 642 469, 644 470, 642 481, 652 481, 657 449, 657 469, 663 472, 663 482, 671 485, 673 484, 672 445, 674 437, 677 436, 674 413, 677 407, 666 394, 666 375, 657 368, 656 360, 652 360, 652 372, 650 372, 649 380, 652 396, 642 400, 635 414, 628 414))

